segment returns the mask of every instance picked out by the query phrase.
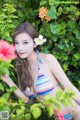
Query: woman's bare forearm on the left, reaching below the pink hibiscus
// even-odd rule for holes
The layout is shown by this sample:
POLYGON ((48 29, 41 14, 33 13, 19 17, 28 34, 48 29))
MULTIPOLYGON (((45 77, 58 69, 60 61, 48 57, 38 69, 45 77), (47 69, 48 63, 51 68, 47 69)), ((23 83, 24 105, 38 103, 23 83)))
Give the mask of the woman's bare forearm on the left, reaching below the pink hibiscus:
POLYGON ((29 98, 25 96, 25 94, 16 86, 16 84, 12 81, 8 74, 1 76, 1 79, 6 82, 9 87, 15 86, 17 88, 17 90, 14 91, 17 97, 24 99, 25 103, 29 101, 29 98))

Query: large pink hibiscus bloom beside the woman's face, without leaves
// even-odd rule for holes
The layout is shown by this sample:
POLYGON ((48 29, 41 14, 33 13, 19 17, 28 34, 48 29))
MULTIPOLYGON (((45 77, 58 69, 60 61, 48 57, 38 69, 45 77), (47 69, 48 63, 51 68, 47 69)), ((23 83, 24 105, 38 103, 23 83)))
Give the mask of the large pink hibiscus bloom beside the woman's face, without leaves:
POLYGON ((9 44, 5 40, 0 40, 0 59, 9 62, 11 59, 16 58, 15 48, 13 44, 9 44))

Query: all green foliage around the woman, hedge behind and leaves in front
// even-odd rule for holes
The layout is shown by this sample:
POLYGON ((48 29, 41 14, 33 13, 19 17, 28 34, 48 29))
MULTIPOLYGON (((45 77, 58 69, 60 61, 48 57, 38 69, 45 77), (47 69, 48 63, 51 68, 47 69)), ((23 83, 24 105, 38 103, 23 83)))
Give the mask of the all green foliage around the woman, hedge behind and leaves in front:
MULTIPOLYGON (((52 53, 60 61, 71 82, 80 90, 79 5, 79 2, 73 2, 73 0, 1 0, 0 39, 5 39, 11 43, 11 34, 16 25, 26 21, 31 22, 39 33, 47 38, 47 42, 41 50, 45 53, 52 53), (48 8, 47 15, 51 17, 51 21, 41 20, 38 15, 41 7, 48 8)), ((24 120, 41 120, 43 119, 41 116, 45 116, 45 113, 48 116, 44 120, 53 120, 51 118, 54 113, 52 104, 60 110, 59 103, 61 102, 64 106, 68 103, 72 105, 70 98, 74 96, 71 90, 65 90, 64 92, 59 90, 54 100, 47 96, 45 103, 37 103, 31 106, 25 105, 23 100, 14 101, 14 99, 11 99, 12 101, 10 101, 12 89, 6 89, 7 93, 5 93, 4 87, 0 83, 0 90, 4 92, 4 96, 0 98, 0 105, 2 106, 0 109, 10 111, 11 120, 21 120, 23 118, 24 120), (6 104, 7 100, 9 105, 6 104)))

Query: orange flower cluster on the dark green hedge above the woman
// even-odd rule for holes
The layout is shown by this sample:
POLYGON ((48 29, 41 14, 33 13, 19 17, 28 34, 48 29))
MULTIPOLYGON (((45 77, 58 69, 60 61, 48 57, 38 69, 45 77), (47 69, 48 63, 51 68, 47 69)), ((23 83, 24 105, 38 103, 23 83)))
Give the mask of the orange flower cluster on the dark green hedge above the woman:
POLYGON ((42 20, 46 20, 47 22, 51 20, 50 16, 47 16, 48 12, 48 9, 46 7, 42 7, 39 9, 39 17, 42 19, 42 20))

